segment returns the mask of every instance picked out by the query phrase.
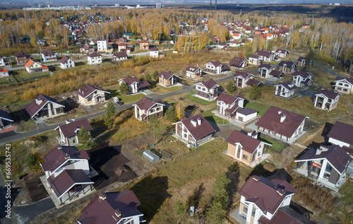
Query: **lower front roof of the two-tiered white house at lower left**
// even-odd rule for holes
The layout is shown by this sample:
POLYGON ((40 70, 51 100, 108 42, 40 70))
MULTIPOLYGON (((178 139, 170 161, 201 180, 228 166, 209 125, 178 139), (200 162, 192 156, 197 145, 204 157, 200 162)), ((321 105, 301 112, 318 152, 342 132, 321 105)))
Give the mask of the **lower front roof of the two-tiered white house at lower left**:
POLYGON ((52 175, 47 180, 58 198, 76 184, 93 184, 83 170, 64 170, 56 177, 52 175))

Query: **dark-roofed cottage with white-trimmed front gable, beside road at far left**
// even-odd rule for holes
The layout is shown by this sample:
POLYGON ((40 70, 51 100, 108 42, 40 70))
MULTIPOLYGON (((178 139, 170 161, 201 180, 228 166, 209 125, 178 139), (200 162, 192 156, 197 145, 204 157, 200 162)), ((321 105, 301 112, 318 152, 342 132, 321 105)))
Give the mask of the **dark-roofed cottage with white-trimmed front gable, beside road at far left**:
POLYGON ((38 95, 25 110, 30 117, 55 117, 64 114, 64 105, 54 98, 49 98, 46 95, 38 95))

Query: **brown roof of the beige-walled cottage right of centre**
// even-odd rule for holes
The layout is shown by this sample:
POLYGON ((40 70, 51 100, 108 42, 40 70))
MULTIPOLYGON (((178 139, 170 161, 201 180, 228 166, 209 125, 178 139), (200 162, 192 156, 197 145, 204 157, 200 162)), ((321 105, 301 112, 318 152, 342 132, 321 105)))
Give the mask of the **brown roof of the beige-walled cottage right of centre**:
POLYGON ((243 147, 243 150, 245 150, 248 153, 253 154, 254 151, 256 151, 256 148, 258 148, 258 145, 260 145, 261 141, 253 138, 251 136, 248 136, 246 134, 242 134, 239 131, 234 130, 232 134, 229 135, 227 138, 227 143, 231 143, 232 145, 236 145, 237 143, 241 144, 243 147))

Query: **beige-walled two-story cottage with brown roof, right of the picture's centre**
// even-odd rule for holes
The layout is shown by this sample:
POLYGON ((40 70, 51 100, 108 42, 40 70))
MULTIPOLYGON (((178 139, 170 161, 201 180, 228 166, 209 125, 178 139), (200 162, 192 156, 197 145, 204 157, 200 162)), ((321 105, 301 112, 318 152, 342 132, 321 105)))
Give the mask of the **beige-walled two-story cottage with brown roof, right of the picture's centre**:
POLYGON ((253 131, 243 134, 234 130, 227 138, 227 155, 244 163, 251 165, 263 155, 265 143, 257 139, 258 134, 253 131))

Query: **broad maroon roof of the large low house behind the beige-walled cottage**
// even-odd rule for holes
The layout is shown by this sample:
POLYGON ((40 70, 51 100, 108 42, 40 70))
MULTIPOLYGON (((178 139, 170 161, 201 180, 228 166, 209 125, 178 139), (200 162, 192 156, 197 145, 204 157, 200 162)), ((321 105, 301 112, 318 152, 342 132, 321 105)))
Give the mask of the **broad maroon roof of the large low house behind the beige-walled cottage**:
POLYGON ((256 125, 290 138, 304 119, 306 117, 301 114, 270 106, 263 117, 256 122, 256 125), (280 122, 283 115, 285 115, 285 120, 280 122))

